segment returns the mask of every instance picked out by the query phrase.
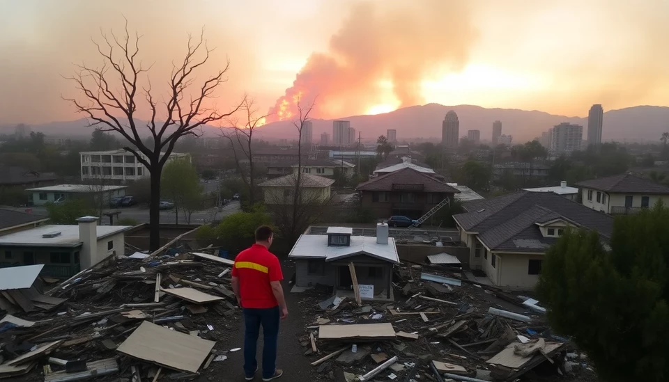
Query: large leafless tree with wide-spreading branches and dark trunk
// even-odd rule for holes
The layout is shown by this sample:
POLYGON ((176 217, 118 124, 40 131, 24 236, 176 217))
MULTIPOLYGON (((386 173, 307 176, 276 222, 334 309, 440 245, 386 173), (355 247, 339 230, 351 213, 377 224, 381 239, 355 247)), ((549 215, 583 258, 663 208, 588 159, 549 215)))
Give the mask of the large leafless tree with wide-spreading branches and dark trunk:
POLYGON ((185 57, 180 63, 172 64, 169 92, 162 97, 164 105, 163 102, 159 105, 148 78, 147 85, 141 85, 140 77, 151 67, 144 67, 137 57, 140 37, 137 33, 130 36, 126 20, 125 34, 121 38, 112 32, 111 38, 103 33, 101 43, 93 40, 104 64, 102 67, 76 65, 75 74, 66 78, 75 83, 84 97, 66 100, 89 119, 91 126, 121 134, 129 143, 123 149, 134 154, 151 173, 150 249, 155 250, 160 247, 160 175, 176 141, 183 136, 199 136, 199 128, 231 116, 241 105, 229 113, 219 113, 208 105, 215 90, 226 81, 224 74, 229 61, 223 69, 195 85, 195 74, 212 52, 203 33, 195 40, 188 36, 185 57), (151 113, 146 122, 146 129, 151 133, 148 141, 142 141, 140 136, 144 130, 137 119, 140 103, 145 103, 151 113), (164 106, 162 117, 157 116, 159 106, 160 113, 164 106))

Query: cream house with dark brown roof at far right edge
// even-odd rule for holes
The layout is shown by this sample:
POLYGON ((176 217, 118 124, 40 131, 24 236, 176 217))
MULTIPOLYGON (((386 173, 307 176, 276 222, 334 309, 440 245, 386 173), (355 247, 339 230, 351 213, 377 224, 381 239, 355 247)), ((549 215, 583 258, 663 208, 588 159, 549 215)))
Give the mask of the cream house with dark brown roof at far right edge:
POLYGON ((669 205, 669 187, 629 173, 578 182, 585 207, 607 214, 636 214, 659 200, 669 205))

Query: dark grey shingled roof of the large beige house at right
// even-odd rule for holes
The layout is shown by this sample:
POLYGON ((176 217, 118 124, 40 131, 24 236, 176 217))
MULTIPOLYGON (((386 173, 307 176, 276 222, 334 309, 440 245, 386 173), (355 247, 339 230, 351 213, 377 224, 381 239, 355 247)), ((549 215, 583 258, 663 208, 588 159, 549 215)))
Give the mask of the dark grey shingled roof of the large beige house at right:
POLYGON ((608 241, 613 218, 554 193, 518 191, 497 198, 466 203, 466 213, 454 216, 468 232, 491 250, 543 252, 555 238, 544 237, 537 223, 556 219, 599 232, 608 241))

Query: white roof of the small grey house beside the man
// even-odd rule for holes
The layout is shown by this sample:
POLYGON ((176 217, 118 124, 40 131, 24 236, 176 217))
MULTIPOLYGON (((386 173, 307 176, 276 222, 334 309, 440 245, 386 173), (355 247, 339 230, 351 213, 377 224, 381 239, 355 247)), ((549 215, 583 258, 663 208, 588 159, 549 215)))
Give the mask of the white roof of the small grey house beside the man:
POLYGON ((328 246, 326 234, 302 234, 288 257, 329 262, 360 254, 399 263, 395 239, 392 237, 388 238, 388 244, 378 244, 376 237, 351 236, 351 246, 328 246))

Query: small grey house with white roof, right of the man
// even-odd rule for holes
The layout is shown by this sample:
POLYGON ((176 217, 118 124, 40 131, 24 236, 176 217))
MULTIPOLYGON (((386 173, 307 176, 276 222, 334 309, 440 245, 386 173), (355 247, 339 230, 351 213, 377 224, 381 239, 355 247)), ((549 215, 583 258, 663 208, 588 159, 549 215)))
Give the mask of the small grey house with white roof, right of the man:
POLYGON ((346 296, 353 285, 353 264, 358 285, 371 285, 374 296, 392 299, 392 267, 399 256, 388 234, 385 223, 376 225, 376 237, 353 236, 353 228, 344 227, 330 227, 325 234, 307 230, 289 253, 295 260, 295 285, 328 285, 346 296))

